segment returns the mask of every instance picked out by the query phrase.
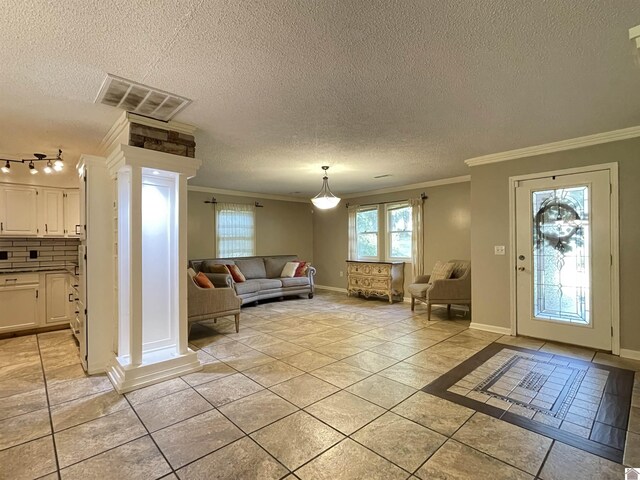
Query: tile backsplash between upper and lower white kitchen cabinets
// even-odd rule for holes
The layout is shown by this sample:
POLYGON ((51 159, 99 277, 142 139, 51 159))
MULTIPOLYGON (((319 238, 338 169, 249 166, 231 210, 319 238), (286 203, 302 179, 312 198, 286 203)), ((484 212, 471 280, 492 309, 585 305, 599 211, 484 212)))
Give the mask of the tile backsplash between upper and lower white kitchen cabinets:
POLYGON ((0 273, 15 269, 70 267, 78 263, 77 238, 0 238, 0 273), (35 258, 31 258, 35 253, 35 258), (2 260, 2 252, 7 259, 2 260))

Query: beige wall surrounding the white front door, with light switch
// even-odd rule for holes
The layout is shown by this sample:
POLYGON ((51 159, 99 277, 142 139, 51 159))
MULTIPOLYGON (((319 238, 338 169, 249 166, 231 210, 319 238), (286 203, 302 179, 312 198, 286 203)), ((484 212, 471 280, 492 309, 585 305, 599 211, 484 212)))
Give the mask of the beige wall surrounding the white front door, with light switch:
POLYGON ((621 348, 640 350, 640 139, 471 168, 473 320, 509 327, 509 177, 618 162, 621 348), (494 245, 507 246, 505 256, 494 245))

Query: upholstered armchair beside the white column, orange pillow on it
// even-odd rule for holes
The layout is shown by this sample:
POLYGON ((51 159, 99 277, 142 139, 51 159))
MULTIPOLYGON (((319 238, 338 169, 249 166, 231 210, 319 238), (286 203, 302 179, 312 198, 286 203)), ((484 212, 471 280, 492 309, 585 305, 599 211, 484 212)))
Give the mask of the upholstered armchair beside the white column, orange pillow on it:
POLYGON ((187 318, 191 324, 201 320, 216 320, 233 315, 236 333, 240 330, 240 304, 242 300, 233 288, 201 288, 190 275, 187 280, 187 318))

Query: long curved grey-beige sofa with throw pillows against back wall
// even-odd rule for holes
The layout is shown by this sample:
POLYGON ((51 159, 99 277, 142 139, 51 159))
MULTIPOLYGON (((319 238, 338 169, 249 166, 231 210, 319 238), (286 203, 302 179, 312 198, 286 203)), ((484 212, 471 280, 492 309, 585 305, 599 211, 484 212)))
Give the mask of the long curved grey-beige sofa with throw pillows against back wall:
POLYGON ((232 287, 242 299, 242 303, 257 302, 267 298, 281 298, 308 295, 313 298, 313 276, 316 269, 309 266, 304 277, 281 278, 280 274, 287 262, 296 262, 295 255, 272 255, 242 258, 205 258, 189 260, 189 266, 196 272, 203 272, 216 287, 232 287), (234 282, 231 275, 212 273, 214 265, 237 265, 247 279, 234 282))

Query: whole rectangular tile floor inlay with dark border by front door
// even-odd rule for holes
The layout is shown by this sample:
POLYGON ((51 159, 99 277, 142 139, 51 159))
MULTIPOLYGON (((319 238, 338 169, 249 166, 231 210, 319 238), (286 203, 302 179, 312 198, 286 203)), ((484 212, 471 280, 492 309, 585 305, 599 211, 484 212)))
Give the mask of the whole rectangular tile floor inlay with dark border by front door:
POLYGON ((422 390, 621 462, 634 372, 493 343, 422 390))

